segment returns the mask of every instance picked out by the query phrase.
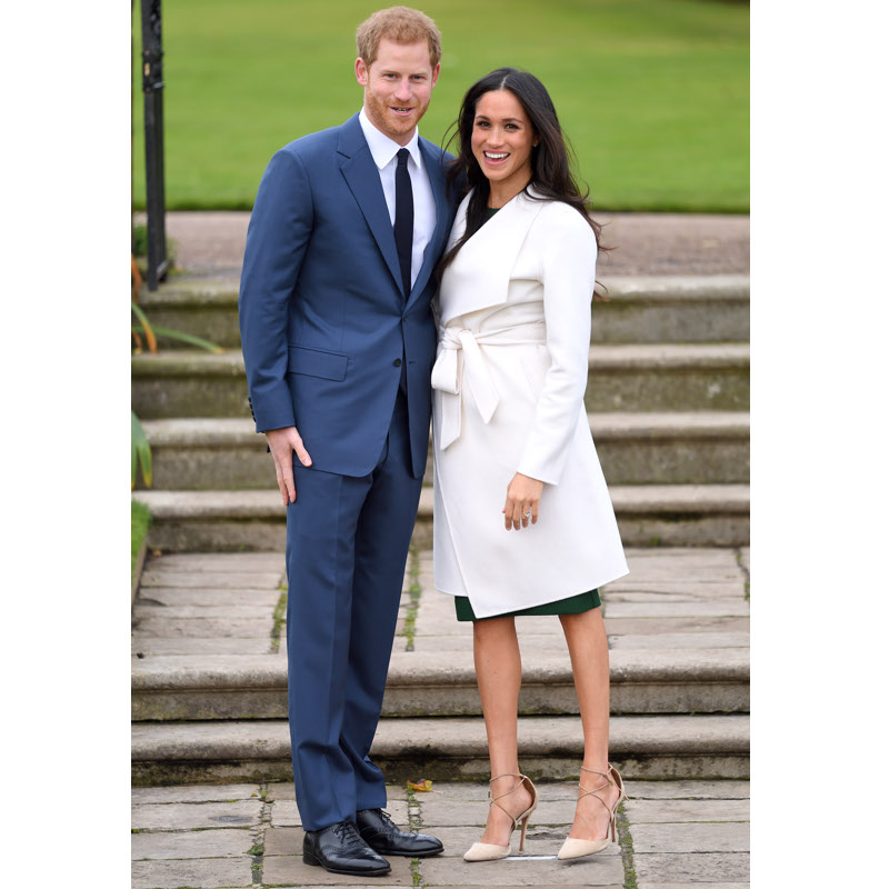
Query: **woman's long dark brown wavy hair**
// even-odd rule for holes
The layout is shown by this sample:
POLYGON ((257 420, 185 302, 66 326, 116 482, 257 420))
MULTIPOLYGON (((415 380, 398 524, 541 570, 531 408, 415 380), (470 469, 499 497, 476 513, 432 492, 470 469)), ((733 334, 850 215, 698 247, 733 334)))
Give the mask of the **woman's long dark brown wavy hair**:
MULTIPOLYGON (((521 103, 528 120, 531 122, 538 143, 531 149, 531 181, 525 193, 533 200, 562 201, 573 207, 589 223, 596 233, 598 243, 602 227, 590 217, 592 204, 589 200, 589 188, 580 188, 579 180, 571 171, 572 151, 562 133, 556 107, 552 104, 546 87, 528 71, 518 68, 498 68, 473 83, 460 106, 460 114, 452 127, 456 132, 448 140, 448 147, 459 139, 459 153, 448 170, 448 186, 451 192, 459 192, 460 186, 472 190, 466 216, 466 231, 459 241, 442 257, 436 269, 440 277, 453 261, 460 248, 485 224, 488 219, 488 197, 490 183, 472 153, 472 128, 476 122, 476 106, 479 99, 493 90, 509 90, 521 103), (539 198, 529 194, 533 186, 539 198)), ((600 251, 608 250, 599 247, 600 251)), ((596 294, 599 296, 598 293, 596 294)))

